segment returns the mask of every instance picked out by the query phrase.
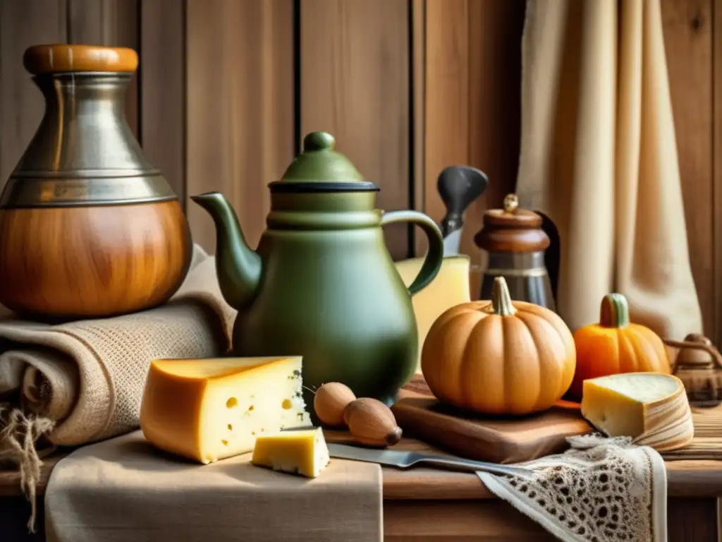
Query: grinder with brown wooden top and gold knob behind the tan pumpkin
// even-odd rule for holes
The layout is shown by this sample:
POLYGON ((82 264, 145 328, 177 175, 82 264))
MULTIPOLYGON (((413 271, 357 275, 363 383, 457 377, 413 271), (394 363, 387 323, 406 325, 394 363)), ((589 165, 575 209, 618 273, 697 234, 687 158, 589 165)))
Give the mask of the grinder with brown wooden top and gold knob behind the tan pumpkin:
POLYGON ((482 277, 481 299, 491 299, 494 279, 504 277, 515 301, 529 301, 555 310, 544 251, 549 236, 541 229, 541 216, 519 209, 516 194, 504 198, 503 209, 484 212, 484 227, 474 243, 489 253, 482 277))

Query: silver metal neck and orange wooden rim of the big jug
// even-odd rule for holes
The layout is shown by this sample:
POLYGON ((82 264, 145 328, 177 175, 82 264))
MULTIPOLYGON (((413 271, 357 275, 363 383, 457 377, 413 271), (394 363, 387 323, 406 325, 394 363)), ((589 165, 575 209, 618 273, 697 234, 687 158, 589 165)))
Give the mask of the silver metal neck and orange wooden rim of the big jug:
POLYGON ((38 45, 27 48, 23 64, 45 96, 45 112, 6 182, 0 208, 178 199, 126 121, 125 90, 138 66, 133 49, 38 45))

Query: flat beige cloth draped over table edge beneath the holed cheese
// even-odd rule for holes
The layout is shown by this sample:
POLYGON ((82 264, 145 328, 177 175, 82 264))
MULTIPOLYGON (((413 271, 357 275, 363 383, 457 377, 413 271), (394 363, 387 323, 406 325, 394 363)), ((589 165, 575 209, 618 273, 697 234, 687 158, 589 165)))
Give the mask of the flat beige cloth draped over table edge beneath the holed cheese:
POLYGON ((45 492, 48 542, 378 542, 378 465, 331 460, 308 480, 248 463, 193 465, 139 431, 73 452, 45 492))

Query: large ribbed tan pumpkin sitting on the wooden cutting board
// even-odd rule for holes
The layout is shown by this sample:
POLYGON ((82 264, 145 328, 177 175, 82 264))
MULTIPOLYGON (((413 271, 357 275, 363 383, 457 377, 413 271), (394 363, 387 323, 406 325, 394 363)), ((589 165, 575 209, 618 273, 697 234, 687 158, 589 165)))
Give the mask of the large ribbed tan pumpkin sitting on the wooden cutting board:
POLYGON ((444 403, 485 414, 546 410, 569 389, 576 350, 567 325, 542 306, 512 301, 496 278, 492 301, 448 309, 434 322, 422 370, 444 403))

